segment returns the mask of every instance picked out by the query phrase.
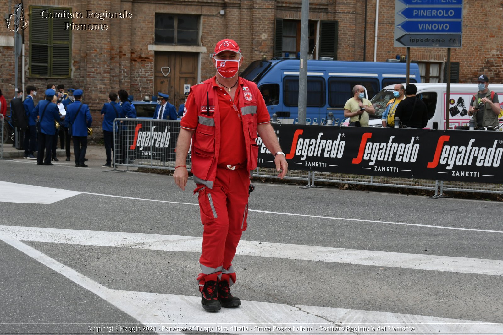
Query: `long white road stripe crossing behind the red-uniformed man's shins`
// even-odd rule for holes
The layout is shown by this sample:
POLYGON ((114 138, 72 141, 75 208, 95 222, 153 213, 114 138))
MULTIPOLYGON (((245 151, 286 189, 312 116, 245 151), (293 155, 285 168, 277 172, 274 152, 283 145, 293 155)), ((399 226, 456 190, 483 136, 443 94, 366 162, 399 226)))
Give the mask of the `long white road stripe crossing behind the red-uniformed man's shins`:
MULTIPOLYGON (((31 242, 194 253, 201 253, 202 245, 202 238, 192 236, 15 226, 0 226, 0 237, 2 236, 31 242)), ((243 240, 239 242, 236 255, 503 276, 503 261, 481 258, 407 254, 243 240)))

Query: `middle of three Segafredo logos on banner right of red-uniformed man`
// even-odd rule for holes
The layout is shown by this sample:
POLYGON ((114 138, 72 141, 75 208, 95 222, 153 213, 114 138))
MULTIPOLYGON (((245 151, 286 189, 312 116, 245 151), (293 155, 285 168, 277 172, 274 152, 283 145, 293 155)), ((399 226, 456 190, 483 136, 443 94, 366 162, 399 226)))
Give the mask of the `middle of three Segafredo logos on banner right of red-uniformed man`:
POLYGON ((353 164, 360 164, 363 160, 374 165, 376 162, 415 162, 419 152, 419 144, 414 141, 418 137, 411 137, 410 143, 394 143, 394 136, 388 142, 371 142, 372 133, 364 133, 360 142, 358 156, 353 158, 353 164), (368 141, 368 142, 367 142, 368 141))

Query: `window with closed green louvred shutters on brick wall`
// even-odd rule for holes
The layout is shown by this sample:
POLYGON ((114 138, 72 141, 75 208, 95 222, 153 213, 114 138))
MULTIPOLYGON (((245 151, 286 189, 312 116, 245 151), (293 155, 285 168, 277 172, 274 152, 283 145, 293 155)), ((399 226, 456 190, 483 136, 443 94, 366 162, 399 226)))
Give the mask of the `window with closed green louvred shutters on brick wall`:
POLYGON ((30 76, 71 76, 71 8, 30 6, 30 76))

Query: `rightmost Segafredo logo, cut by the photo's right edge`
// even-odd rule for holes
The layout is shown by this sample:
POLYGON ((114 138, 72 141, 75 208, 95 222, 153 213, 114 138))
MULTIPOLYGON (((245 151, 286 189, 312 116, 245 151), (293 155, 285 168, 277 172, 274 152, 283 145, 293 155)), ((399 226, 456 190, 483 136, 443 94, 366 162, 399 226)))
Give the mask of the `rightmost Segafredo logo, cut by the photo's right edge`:
MULTIPOLYGON (((437 141, 437 149, 433 160, 428 163, 429 168, 436 168, 439 164, 446 165, 448 170, 455 166, 498 167, 503 156, 503 140, 494 140, 492 146, 474 146, 475 139, 471 139, 467 146, 451 146, 448 144, 449 135, 443 135, 437 141)), ((490 145, 490 144, 489 144, 490 145)))

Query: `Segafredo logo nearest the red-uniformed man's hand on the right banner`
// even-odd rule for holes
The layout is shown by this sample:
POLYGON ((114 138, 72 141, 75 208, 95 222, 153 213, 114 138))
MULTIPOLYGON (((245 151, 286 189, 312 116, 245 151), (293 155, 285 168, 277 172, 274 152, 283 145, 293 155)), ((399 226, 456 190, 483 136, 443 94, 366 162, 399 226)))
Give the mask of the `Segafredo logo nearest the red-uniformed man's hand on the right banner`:
POLYGON ((316 139, 304 139, 300 137, 303 132, 302 129, 295 131, 292 147, 290 152, 286 155, 287 159, 292 159, 295 156, 298 156, 302 161, 307 157, 343 157, 346 141, 341 140, 341 134, 339 134, 337 140, 321 139, 323 133, 319 133, 316 139))

